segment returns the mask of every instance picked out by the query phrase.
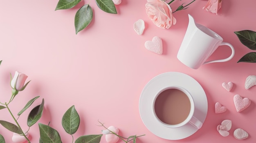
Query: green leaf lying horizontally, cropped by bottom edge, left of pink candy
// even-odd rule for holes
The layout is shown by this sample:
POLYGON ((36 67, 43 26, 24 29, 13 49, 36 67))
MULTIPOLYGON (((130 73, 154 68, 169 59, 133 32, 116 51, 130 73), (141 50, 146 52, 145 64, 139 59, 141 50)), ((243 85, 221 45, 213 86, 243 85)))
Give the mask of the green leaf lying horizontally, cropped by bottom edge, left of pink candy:
POLYGON ((92 134, 80 136, 76 139, 75 143, 99 143, 101 141, 102 134, 92 134))

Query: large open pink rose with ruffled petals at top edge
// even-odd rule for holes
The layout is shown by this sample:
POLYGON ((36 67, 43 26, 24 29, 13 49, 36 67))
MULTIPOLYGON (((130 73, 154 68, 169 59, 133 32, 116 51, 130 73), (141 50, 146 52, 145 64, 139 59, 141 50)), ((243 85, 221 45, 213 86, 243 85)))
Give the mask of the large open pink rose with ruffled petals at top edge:
POLYGON ((162 29, 168 29, 176 24, 176 19, 169 4, 162 0, 147 0, 146 13, 150 20, 162 29))

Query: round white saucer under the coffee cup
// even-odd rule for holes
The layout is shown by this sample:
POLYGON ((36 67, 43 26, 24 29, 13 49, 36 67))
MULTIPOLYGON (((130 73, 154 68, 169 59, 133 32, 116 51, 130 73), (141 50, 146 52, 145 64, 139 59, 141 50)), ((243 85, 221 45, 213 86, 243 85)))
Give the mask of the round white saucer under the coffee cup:
POLYGON ((191 93, 195 102, 194 116, 204 123, 208 110, 207 97, 204 89, 198 81, 189 75, 178 72, 162 73, 146 84, 139 98, 139 114, 148 130, 156 136, 168 140, 184 139, 194 134, 198 129, 190 123, 180 128, 168 128, 157 122, 153 115, 152 103, 154 96, 157 92, 169 86, 181 86, 191 93))

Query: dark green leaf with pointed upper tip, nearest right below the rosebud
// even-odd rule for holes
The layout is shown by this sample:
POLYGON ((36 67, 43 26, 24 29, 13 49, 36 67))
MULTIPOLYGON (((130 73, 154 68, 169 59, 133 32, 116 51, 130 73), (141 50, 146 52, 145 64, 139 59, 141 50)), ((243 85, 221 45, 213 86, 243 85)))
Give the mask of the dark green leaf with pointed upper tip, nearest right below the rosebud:
POLYGON ((42 116, 43 114, 43 108, 44 108, 44 99, 42 100, 42 103, 35 108, 31 110, 29 113, 29 116, 27 117, 27 125, 31 127, 34 125, 42 116))

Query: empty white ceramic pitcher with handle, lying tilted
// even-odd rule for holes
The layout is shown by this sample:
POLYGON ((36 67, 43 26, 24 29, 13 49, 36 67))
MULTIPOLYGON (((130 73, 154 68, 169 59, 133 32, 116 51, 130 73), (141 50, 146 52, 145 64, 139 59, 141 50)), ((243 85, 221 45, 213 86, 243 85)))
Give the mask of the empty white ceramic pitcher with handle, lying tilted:
POLYGON ((184 39, 177 54, 177 58, 193 69, 198 69, 203 64, 214 62, 227 62, 235 55, 234 47, 223 42, 223 38, 211 29, 195 23, 195 20, 189 15, 189 25, 186 30, 184 39), (205 62, 218 46, 227 45, 231 48, 232 53, 226 59, 217 59, 205 62))

